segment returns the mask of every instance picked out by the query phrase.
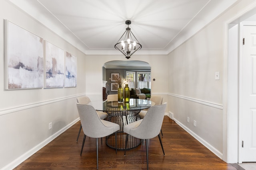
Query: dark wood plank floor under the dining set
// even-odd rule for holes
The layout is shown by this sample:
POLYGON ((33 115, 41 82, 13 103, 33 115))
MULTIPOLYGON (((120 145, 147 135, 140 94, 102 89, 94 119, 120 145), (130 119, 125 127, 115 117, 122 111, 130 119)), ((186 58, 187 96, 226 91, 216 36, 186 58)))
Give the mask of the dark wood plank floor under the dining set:
MULTIPOLYGON (((96 169, 96 139, 86 138, 84 151, 80 156, 84 134, 81 132, 76 143, 79 127, 80 121, 15 169, 96 169)), ((166 155, 163 155, 158 137, 150 139, 149 169, 236 170, 234 166, 215 156, 167 116, 164 117, 162 131, 166 155)), ((116 154, 114 149, 110 149, 105 143, 101 145, 99 140, 99 169, 135 170, 146 169, 146 167, 145 145, 128 150, 124 156, 124 151, 118 150, 116 154)))

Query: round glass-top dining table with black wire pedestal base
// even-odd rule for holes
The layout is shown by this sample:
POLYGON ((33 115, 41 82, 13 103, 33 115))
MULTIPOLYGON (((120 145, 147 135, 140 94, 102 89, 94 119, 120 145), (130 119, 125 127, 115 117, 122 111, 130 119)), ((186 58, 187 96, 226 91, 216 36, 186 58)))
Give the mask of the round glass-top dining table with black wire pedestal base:
MULTIPOLYGON (((97 111, 104 111, 108 113, 108 117, 106 117, 105 120, 120 125, 120 130, 117 131, 117 149, 124 150, 126 134, 123 132, 123 127, 141 119, 138 113, 143 109, 148 109, 149 107, 154 106, 155 103, 150 100, 130 99, 129 103, 101 100, 90 102, 88 105, 93 106, 97 111)), ((128 139, 127 149, 135 148, 140 145, 141 142, 141 139, 131 136, 128 139)), ((112 149, 116 148, 114 133, 106 137, 106 145, 112 149)))

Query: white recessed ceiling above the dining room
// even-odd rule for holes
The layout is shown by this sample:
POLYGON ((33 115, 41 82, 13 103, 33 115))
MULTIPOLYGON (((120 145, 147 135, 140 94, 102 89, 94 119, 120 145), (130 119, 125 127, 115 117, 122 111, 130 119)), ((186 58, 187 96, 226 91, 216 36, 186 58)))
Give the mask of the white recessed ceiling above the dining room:
MULTIPOLYGON (((168 54, 237 0, 10 0, 89 55, 120 55, 126 20, 142 49, 168 54)), ((134 55, 136 55, 134 54, 134 55)))

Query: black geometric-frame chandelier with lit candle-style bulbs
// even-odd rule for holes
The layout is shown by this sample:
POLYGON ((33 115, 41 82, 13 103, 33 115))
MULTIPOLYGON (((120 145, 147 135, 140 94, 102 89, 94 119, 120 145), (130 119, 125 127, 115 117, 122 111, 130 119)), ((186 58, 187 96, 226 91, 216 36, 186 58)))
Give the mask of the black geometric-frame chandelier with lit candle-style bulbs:
POLYGON ((128 27, 115 45, 115 49, 121 51, 127 59, 130 59, 130 56, 142 47, 129 28, 131 23, 130 20, 125 21, 125 24, 127 24, 128 27))

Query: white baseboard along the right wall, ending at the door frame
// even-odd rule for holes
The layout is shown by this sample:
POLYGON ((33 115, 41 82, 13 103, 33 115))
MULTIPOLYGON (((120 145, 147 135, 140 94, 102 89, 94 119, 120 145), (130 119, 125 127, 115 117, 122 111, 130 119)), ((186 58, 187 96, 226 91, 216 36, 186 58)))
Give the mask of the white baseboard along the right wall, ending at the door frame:
POLYGON ((185 131, 187 131, 192 137, 194 137, 196 140, 198 140, 202 145, 204 145, 207 149, 209 149, 212 153, 214 153, 216 156, 218 156, 220 159, 222 159, 223 155, 220 151, 218 151, 216 148, 214 148, 212 145, 210 145, 208 142, 206 142, 204 139, 202 139, 200 136, 196 135, 193 131, 188 129, 185 125, 177 121, 175 118, 173 119, 180 127, 182 127, 185 131))

